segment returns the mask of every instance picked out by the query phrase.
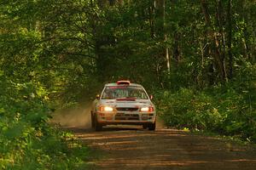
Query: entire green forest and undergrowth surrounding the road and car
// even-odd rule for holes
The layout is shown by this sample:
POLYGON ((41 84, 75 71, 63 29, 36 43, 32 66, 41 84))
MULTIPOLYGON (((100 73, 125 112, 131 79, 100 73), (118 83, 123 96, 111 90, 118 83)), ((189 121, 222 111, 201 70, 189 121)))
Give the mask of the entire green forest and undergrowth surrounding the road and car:
POLYGON ((166 126, 255 142, 255 56, 252 0, 0 0, 0 168, 83 167, 51 113, 119 79, 166 126))

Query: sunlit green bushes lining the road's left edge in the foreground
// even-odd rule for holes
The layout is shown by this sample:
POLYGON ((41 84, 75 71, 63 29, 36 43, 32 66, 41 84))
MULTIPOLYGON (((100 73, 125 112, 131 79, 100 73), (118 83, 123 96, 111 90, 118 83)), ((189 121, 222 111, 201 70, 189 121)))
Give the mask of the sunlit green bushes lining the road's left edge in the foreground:
POLYGON ((75 142, 70 133, 49 126, 44 88, 15 83, 3 76, 0 79, 0 168, 84 167, 82 159, 88 150, 75 142))

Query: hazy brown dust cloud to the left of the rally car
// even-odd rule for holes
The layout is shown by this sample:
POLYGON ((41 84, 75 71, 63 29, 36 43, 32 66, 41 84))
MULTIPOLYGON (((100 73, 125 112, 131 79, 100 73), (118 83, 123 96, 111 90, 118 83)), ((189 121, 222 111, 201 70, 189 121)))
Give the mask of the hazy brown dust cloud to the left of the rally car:
POLYGON ((62 127, 90 128, 90 108, 91 103, 88 103, 76 108, 55 111, 51 122, 62 127))

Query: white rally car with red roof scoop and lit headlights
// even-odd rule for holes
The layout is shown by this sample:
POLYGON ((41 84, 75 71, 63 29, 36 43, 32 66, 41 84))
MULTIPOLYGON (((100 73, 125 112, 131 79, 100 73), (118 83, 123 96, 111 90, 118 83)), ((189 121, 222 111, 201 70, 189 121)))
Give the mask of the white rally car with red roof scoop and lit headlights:
POLYGON ((129 81, 108 83, 97 95, 90 111, 91 125, 96 131, 106 125, 143 125, 155 129, 156 112, 142 85, 129 81))

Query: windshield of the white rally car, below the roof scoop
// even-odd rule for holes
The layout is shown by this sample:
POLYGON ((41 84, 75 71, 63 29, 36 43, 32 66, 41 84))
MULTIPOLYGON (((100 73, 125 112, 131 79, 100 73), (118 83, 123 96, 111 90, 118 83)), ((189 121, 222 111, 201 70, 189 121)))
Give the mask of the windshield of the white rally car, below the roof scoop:
POLYGON ((136 86, 106 87, 102 99, 148 99, 144 89, 136 86))

